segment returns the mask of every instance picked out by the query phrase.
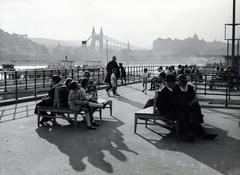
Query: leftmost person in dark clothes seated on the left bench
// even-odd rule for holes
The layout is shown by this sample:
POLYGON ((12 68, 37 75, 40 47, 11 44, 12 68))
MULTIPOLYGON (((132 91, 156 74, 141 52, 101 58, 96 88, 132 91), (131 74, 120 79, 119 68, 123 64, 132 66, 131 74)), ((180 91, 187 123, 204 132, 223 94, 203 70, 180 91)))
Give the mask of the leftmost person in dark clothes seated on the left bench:
MULTIPOLYGON (((39 102, 36 107, 35 107, 35 114, 38 114, 37 107, 38 106, 53 106, 53 101, 54 101, 54 94, 55 94, 55 88, 61 86, 61 78, 58 75, 54 75, 52 77, 52 88, 48 91, 48 95, 45 96, 41 102, 39 102)), ((49 115, 47 112, 41 111, 41 115, 49 115)), ((44 124, 47 121, 50 121, 50 118, 43 117, 42 120, 40 121, 40 124, 44 124)))

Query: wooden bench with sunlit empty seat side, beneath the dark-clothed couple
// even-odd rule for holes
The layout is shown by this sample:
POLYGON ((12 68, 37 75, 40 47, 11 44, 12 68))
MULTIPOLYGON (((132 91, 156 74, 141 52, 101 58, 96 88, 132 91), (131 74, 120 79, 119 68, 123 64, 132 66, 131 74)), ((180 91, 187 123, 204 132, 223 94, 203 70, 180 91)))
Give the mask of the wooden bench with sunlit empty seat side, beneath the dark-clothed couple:
MULTIPOLYGON (((179 136, 179 125, 177 121, 172 121, 167 118, 167 116, 160 115, 156 109, 156 99, 158 92, 155 92, 154 105, 152 107, 148 107, 145 109, 141 109, 134 114, 134 133, 137 133, 137 125, 144 124, 145 127, 148 125, 149 120, 153 120, 153 124, 156 123, 157 120, 164 122, 165 126, 169 129, 175 129, 177 136, 179 136), (145 122, 139 122, 138 120, 145 120, 145 122)), ((164 125, 161 125, 164 126, 164 125)))

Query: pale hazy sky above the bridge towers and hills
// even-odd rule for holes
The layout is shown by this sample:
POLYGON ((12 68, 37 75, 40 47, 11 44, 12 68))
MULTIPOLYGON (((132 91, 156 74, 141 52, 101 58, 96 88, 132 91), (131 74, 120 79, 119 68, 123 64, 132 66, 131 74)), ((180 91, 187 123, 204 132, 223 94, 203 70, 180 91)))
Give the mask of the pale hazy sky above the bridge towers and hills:
MULTIPOLYGON (((85 40, 103 33, 151 48, 157 38, 224 41, 233 0, 0 0, 0 28, 8 33, 58 40, 85 40)), ((240 0, 237 22, 240 22, 240 0)), ((240 30, 237 30, 240 32, 240 30)))

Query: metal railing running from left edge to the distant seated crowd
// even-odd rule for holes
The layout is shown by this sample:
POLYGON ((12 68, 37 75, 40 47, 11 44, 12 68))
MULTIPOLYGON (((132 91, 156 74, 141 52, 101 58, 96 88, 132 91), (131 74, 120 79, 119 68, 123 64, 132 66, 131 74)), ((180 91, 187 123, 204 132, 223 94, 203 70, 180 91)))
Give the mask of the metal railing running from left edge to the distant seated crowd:
MULTIPOLYGON (((154 73, 153 66, 129 66, 125 67, 127 83, 138 82, 141 80, 143 69, 147 67, 151 74, 154 73)), ((90 68, 87 69, 91 73, 97 86, 104 86, 106 69, 90 68)), ((1 71, 0 72, 0 101, 34 96, 37 97, 45 94, 51 84, 49 83, 53 75, 59 75, 62 80, 67 77, 78 81, 83 76, 84 68, 78 69, 58 69, 58 70, 27 70, 27 71, 1 71)))

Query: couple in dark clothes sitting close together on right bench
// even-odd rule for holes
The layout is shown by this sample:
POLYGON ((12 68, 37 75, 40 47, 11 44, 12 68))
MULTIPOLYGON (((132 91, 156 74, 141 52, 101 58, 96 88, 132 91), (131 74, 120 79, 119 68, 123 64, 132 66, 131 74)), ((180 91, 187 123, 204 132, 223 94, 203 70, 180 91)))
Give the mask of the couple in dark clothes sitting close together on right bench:
POLYGON ((179 134, 182 138, 193 141, 195 138, 211 140, 217 134, 206 133, 202 126, 203 114, 192 85, 189 85, 184 74, 177 77, 174 74, 166 75, 165 85, 157 91, 156 99, 147 101, 144 108, 154 105, 160 115, 177 121, 179 134))

